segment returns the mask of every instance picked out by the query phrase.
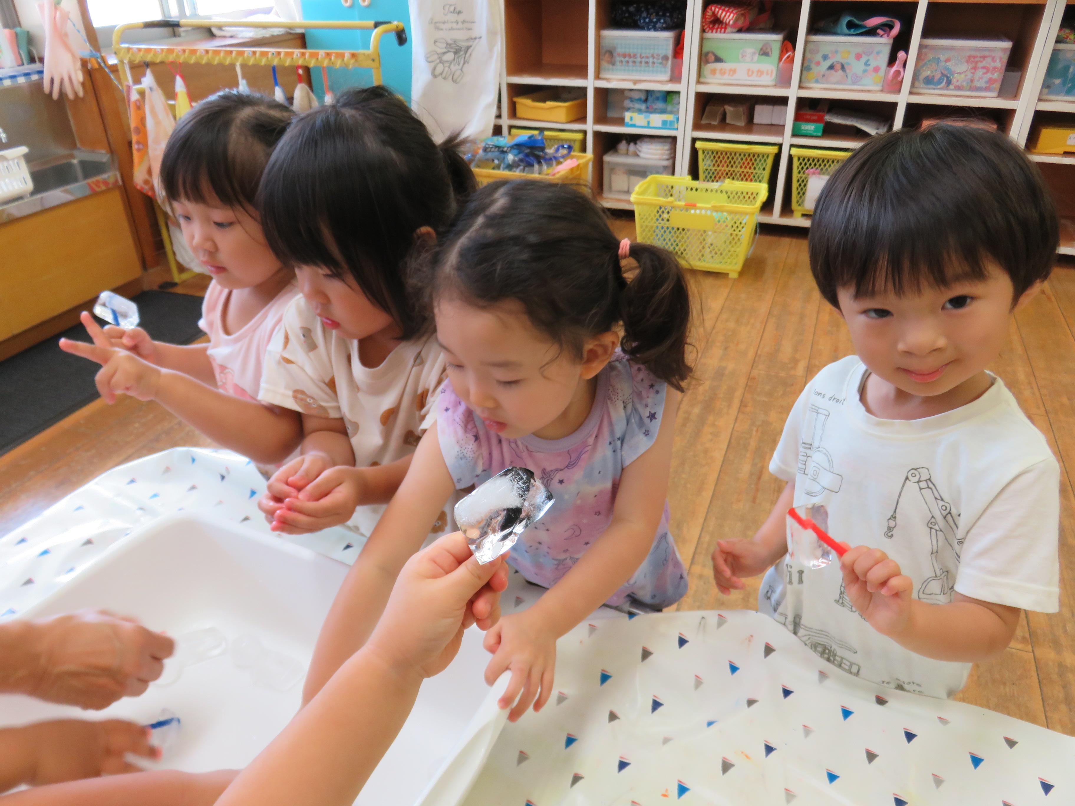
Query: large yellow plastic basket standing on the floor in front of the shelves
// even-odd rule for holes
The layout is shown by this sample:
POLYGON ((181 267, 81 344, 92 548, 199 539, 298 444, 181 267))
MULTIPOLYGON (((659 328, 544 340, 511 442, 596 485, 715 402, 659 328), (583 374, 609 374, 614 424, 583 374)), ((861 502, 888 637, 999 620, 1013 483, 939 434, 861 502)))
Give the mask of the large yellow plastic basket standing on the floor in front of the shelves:
POLYGON ((637 240, 663 246, 693 269, 739 276, 750 254, 769 185, 648 176, 631 193, 637 240))

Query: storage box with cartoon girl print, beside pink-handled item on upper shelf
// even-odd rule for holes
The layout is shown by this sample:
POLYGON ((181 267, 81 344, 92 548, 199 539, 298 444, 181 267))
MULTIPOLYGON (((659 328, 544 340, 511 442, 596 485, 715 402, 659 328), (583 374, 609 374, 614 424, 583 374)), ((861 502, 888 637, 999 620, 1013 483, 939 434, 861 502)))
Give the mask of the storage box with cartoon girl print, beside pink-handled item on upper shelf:
POLYGON ((883 37, 812 34, 803 46, 800 86, 880 90, 892 40, 883 37))

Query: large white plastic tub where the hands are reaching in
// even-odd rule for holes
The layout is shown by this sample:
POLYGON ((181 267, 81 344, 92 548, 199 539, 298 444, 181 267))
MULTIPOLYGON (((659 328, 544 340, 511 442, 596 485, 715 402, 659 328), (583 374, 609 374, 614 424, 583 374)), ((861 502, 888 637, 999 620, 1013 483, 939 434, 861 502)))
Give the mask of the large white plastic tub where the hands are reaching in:
MULTIPOLYGON (((346 573, 343 563, 243 527, 162 518, 116 544, 23 615, 104 607, 173 636, 215 627, 229 643, 253 634, 305 666, 346 573)), ((356 803, 415 802, 489 692, 483 681, 488 658, 482 633, 468 631, 455 662, 422 685, 411 718, 356 803)), ((225 654, 186 667, 173 685, 152 685, 142 696, 126 697, 100 713, 0 695, 0 726, 57 718, 144 723, 168 708, 183 725, 161 766, 238 768, 287 724, 301 692, 301 682, 286 692, 252 685, 248 673, 233 664, 229 646, 225 654)))

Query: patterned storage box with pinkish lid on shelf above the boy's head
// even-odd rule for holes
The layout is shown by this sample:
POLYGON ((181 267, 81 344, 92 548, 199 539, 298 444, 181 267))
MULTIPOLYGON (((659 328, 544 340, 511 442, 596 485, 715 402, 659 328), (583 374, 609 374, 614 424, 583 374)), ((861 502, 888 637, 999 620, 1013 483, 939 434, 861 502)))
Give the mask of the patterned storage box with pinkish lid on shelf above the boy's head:
POLYGON ((995 98, 1004 81, 1012 41, 923 39, 911 87, 915 92, 995 98))

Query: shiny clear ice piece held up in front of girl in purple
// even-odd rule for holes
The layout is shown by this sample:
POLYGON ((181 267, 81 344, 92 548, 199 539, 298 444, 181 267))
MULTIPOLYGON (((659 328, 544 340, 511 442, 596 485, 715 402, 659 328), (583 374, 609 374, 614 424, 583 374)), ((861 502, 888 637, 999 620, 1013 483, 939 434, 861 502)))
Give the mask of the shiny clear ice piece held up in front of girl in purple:
POLYGON ((483 565, 511 549, 553 506, 553 493, 526 467, 508 467, 456 504, 456 522, 483 565))

